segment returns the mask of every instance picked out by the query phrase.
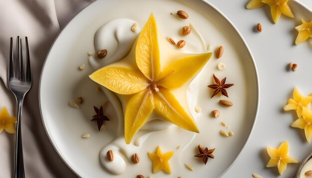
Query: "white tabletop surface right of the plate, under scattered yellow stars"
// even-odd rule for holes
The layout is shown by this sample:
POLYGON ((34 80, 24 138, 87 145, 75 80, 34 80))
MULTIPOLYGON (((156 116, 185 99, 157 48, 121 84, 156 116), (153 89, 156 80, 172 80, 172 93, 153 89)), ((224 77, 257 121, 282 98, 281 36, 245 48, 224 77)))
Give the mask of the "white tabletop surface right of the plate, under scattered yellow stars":
MULTIPOLYGON (((258 67, 261 88, 260 110, 254 131, 234 166, 222 178, 252 178, 253 173, 264 178, 294 178, 299 164, 289 164, 282 176, 279 176, 277 168, 265 167, 269 161, 266 146, 278 147, 282 141, 288 140, 289 155, 300 161, 312 151, 304 131, 290 127, 296 119, 294 112, 283 111, 295 86, 305 95, 312 93, 312 45, 308 42, 294 45, 297 36, 294 27, 301 24, 301 18, 312 20, 312 13, 292 2, 296 18, 282 15, 274 24, 269 6, 249 10, 245 8, 248 0, 209 2, 219 8, 245 38, 258 67), (254 30, 258 22, 263 26, 262 33, 254 30), (296 72, 286 70, 291 61, 299 65, 296 72)), ((312 8, 311 0, 301 2, 312 8)))

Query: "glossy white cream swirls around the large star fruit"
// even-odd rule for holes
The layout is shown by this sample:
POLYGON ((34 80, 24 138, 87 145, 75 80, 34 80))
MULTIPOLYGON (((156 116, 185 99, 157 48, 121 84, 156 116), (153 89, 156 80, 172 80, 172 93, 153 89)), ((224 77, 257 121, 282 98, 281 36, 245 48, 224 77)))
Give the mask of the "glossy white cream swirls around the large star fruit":
MULTIPOLYGON (((141 31, 140 27, 137 29, 136 32, 131 30, 133 24, 137 23, 134 20, 130 19, 116 19, 112 20, 101 28, 99 28, 94 37, 94 45, 95 51, 99 51, 101 49, 107 49, 108 53, 103 59, 97 59, 94 56, 89 56, 89 63, 94 70, 100 69, 106 65, 115 63, 120 61, 125 56, 134 55, 135 50, 131 50, 133 44, 135 43, 138 33, 141 31)), ((197 38, 197 43, 189 41, 188 47, 186 48, 187 52, 206 52, 206 45, 195 29, 193 25, 191 25, 192 30, 197 38), (198 45, 198 41, 201 42, 201 45, 198 45)), ((159 47, 160 50, 163 50, 167 53, 172 53, 172 48, 168 48, 168 42, 165 38, 159 36, 159 47)), ((195 78, 196 79, 196 78, 195 78)), ((198 84, 201 81, 193 80, 192 85, 186 84, 182 86, 180 90, 173 91, 175 95, 178 95, 180 98, 179 100, 182 102, 187 102, 186 105, 190 106, 189 109, 193 110, 193 107, 197 103, 198 98, 198 84), (185 91, 187 88, 187 93, 181 93, 181 91, 185 91)), ((121 104, 125 104, 125 98, 121 97, 121 95, 115 95, 112 91, 102 87, 103 91, 107 95, 108 99, 112 103, 118 119, 118 130, 116 133, 115 140, 113 140, 110 144, 104 147, 100 152, 100 161, 105 169, 114 175, 123 174, 126 171, 127 164, 131 162, 131 157, 133 154, 137 153, 140 150, 140 147, 143 145, 144 141, 154 132, 157 130, 165 129, 168 126, 172 125, 170 122, 164 121, 159 118, 155 113, 152 114, 149 118, 150 122, 145 124, 145 126, 139 131, 136 137, 133 139, 133 142, 129 145, 126 145, 124 139, 124 117, 123 117, 123 110, 121 104), (144 131, 146 130, 146 131, 144 131), (107 151, 112 150, 114 154, 114 161, 110 162, 106 158, 107 151), (127 161, 125 161, 127 159, 127 161)), ((177 98, 178 98, 177 97, 177 98)), ((191 113, 189 113, 191 114, 191 113)), ((181 145, 181 151, 179 152, 179 157, 181 157, 183 150, 194 140, 196 134, 191 133, 191 139, 186 145, 181 145)), ((179 158, 180 160, 180 158, 179 158)))

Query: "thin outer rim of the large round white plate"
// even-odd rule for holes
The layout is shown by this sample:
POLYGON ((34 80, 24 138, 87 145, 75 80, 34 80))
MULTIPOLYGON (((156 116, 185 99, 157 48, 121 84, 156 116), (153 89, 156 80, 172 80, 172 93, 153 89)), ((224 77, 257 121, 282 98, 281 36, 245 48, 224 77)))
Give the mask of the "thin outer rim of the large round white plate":
MULTIPOLYGON (((47 129, 46 127, 46 122, 44 121, 43 119, 43 114, 42 114, 42 102, 41 102, 41 88, 42 88, 42 74, 43 74, 43 70, 46 66, 46 61, 47 61, 47 58, 49 57, 50 55, 50 51, 51 49, 53 48, 54 46, 54 43, 55 41, 58 39, 59 35, 61 33, 63 33, 63 30, 72 22, 73 19, 77 18, 77 15, 80 14, 83 10, 85 10, 85 8, 87 8, 88 6, 90 6, 91 4, 93 4, 96 0, 92 1, 91 3, 89 3, 88 5, 86 5, 84 8, 82 8, 81 10, 79 10, 72 18, 70 21, 68 21, 64 27, 59 31, 59 33, 57 34, 57 36, 55 37, 53 43, 51 44, 51 47, 50 49, 48 50, 47 54, 46 54, 46 57, 44 59, 44 62, 42 64, 42 69, 41 69, 41 72, 40 72, 40 80, 39 80, 39 90, 38 90, 38 100, 39 100, 39 110, 40 110, 40 116, 41 116, 41 120, 42 120, 42 123, 43 123, 43 127, 44 127, 44 130, 49 138, 49 141, 51 142, 54 150, 56 151, 56 153, 58 154, 58 156, 61 158, 61 160, 65 163, 65 165, 76 175, 78 176, 79 178, 81 178, 81 175, 79 175, 79 172, 78 170, 76 170, 70 163, 69 161, 64 157, 64 155, 62 154, 62 152, 59 150, 58 147, 56 147, 56 144, 54 142, 54 139, 52 138, 51 136, 51 133, 50 131, 47 129)), ((237 162, 238 158, 241 156, 242 152, 245 150, 246 148, 246 145, 248 144, 250 138, 251 138, 251 135, 252 135, 252 132, 254 131, 254 128, 255 128, 255 125, 256 125, 256 122, 257 122, 257 119, 258 119, 258 114, 259 114, 259 107, 260 107, 260 81, 259 81, 259 73, 258 73, 258 69, 257 69, 257 65, 256 65, 256 61, 253 57, 253 54, 245 40, 245 38, 242 36, 242 34, 239 32, 239 30, 237 29, 237 27, 234 25, 234 23, 219 9, 217 8, 215 5, 213 5, 211 2, 209 2, 208 0, 199 0, 199 1, 202 1, 204 3, 206 3, 207 5, 209 5, 210 7, 212 7, 214 10, 216 10, 216 12, 218 12, 226 21, 228 21, 230 23, 230 25, 233 27, 233 29, 235 30, 235 32, 238 34, 238 36, 241 38, 244 46, 246 47, 248 53, 249 53, 249 56, 251 58, 251 61, 252 61, 252 66, 253 66, 253 70, 255 72, 255 76, 256 76, 256 84, 257 84, 257 107, 256 107, 256 112, 255 112, 255 115, 254 115, 254 120, 253 120, 253 124, 252 124, 252 127, 250 129, 250 132, 249 132, 249 135, 246 139, 246 142, 244 143, 242 149, 239 151, 238 155, 236 156, 236 158, 234 159, 234 161, 231 163, 231 165, 225 169, 219 176, 222 177, 226 172, 228 172, 232 167, 233 165, 237 162)), ((295 2, 298 3, 297 0, 294 0, 295 2)), ((303 5, 302 3, 299 3, 300 5, 303 5)), ((304 5, 303 5, 304 6, 304 5)), ((306 6, 305 6, 306 7, 306 6)))

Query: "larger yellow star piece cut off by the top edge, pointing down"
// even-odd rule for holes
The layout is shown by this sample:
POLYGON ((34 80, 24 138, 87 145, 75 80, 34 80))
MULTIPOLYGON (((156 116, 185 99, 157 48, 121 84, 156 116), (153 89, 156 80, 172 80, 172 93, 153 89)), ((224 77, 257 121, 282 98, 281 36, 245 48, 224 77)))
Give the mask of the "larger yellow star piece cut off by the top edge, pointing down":
POLYGON ((262 0, 263 3, 270 5, 274 23, 279 21, 282 13, 291 18, 295 17, 287 4, 288 1, 289 0, 262 0))

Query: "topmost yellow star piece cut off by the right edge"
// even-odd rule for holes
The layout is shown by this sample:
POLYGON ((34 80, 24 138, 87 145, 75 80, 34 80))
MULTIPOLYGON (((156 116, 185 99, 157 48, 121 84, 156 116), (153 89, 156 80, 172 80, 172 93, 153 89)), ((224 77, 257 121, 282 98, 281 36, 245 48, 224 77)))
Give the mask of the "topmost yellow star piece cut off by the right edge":
POLYGON ((306 22, 304 19, 301 19, 302 24, 296 26, 295 29, 299 32, 296 38, 296 45, 306 41, 308 38, 312 37, 312 20, 306 22))

